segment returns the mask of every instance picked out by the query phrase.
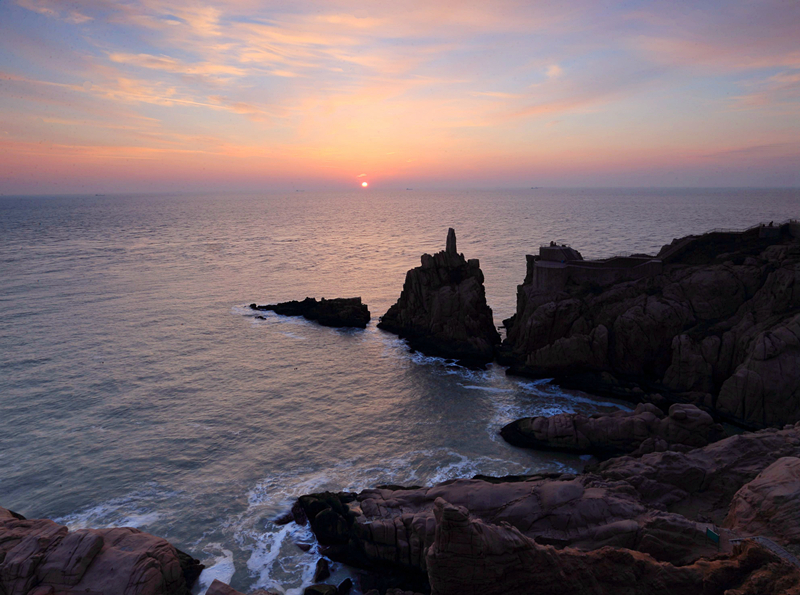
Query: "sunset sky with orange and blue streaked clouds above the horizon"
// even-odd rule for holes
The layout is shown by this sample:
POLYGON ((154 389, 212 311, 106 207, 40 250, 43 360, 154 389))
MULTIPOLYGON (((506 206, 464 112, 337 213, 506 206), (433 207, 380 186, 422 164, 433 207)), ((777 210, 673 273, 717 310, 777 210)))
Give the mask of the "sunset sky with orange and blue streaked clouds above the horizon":
POLYGON ((800 2, 0 0, 0 194, 800 186, 800 2))

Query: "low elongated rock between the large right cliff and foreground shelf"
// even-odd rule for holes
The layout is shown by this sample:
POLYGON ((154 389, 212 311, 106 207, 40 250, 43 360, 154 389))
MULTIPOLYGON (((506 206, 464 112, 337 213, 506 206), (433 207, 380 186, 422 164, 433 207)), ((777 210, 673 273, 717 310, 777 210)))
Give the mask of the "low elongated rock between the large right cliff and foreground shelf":
POLYGON ((676 403, 665 416, 655 405, 640 403, 634 411, 525 417, 503 427, 500 435, 515 446, 614 456, 697 448, 724 433, 694 405, 676 403))

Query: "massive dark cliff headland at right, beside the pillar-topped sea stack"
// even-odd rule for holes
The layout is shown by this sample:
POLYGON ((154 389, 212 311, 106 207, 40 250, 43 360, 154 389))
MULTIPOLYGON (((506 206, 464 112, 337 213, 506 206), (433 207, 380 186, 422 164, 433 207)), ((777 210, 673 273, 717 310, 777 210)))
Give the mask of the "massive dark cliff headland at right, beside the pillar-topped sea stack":
POLYGON ((574 267, 553 289, 535 282, 542 267, 529 257, 502 361, 595 392, 636 400, 658 392, 750 427, 794 423, 798 229, 787 223, 675 240, 658 255, 660 273, 607 284, 582 279, 574 267))

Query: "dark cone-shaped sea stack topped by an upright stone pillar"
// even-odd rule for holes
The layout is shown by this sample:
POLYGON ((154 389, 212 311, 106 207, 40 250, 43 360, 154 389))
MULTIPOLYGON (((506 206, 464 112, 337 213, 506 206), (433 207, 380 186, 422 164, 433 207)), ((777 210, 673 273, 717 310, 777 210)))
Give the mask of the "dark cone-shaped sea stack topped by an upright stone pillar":
POLYGON ((500 335, 486 304, 483 272, 477 259, 458 253, 453 229, 444 251, 423 254, 422 266, 408 271, 400 299, 378 328, 427 355, 475 364, 494 359, 500 335))

